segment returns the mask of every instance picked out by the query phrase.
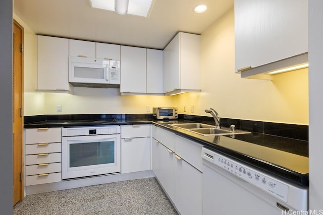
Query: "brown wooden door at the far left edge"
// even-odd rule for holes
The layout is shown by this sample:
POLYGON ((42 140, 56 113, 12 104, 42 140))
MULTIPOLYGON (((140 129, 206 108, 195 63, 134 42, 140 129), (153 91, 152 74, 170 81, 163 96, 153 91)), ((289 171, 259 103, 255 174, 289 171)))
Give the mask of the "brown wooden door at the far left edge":
POLYGON ((13 34, 13 205, 23 199, 23 37, 24 29, 14 20, 13 34))

